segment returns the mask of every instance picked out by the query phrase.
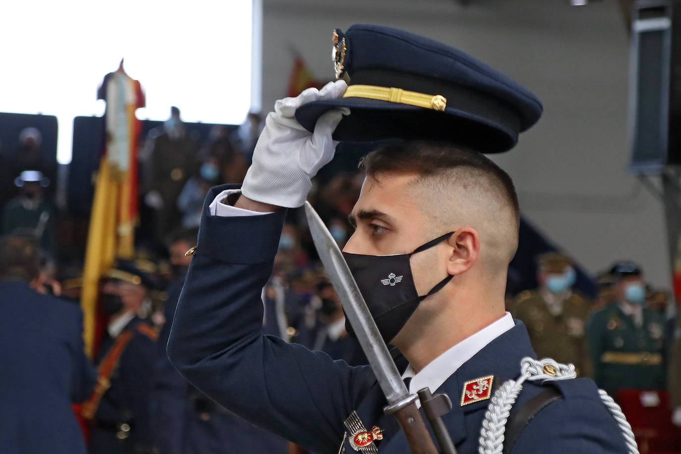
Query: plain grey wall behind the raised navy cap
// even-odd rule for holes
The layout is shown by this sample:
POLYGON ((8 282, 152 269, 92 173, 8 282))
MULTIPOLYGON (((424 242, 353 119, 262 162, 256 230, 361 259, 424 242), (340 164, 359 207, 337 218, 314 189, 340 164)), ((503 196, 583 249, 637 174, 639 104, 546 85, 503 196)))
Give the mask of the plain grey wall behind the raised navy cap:
MULTIPOLYGON (((669 288, 660 202, 629 174, 629 37, 615 0, 264 0, 263 106, 286 93, 291 47, 332 79, 331 33, 380 23, 438 39, 530 88, 543 118, 494 157, 528 220, 586 270, 635 259, 669 288)), ((396 56, 399 58, 399 56, 396 56)))

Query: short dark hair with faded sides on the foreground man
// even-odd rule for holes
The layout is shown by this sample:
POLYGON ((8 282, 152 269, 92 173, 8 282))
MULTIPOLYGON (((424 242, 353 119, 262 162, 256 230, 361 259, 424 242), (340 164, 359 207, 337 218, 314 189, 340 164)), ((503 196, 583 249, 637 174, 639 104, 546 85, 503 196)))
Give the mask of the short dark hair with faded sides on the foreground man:
POLYGON ((515 255, 520 228, 518 195, 511 177, 485 155, 439 142, 396 142, 370 152, 359 167, 372 178, 414 174, 415 185, 422 191, 419 203, 430 204, 428 214, 439 223, 451 225, 452 216, 461 214, 456 211, 462 202, 471 201, 471 210, 479 211, 477 223, 485 224, 488 246, 501 247, 499 259, 506 264, 515 255), (449 208, 443 204, 448 200, 449 208))

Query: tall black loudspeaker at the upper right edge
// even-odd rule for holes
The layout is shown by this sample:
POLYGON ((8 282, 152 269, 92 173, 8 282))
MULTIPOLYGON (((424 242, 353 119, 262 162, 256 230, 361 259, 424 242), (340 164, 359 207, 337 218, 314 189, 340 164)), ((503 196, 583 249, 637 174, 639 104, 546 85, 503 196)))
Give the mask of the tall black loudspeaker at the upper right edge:
POLYGON ((630 78, 630 168, 681 164, 681 0, 633 3, 630 78))

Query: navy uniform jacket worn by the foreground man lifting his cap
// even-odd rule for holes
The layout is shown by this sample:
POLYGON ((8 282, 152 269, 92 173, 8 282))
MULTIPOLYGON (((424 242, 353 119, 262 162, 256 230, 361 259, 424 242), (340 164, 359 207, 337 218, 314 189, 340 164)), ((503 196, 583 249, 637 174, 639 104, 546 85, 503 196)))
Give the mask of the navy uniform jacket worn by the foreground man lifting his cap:
MULTIPOLYGON (((272 272, 285 210, 262 216, 217 217, 204 204, 195 257, 189 267, 168 342, 170 360, 195 387, 254 424, 307 449, 345 454, 350 447, 343 421, 353 410, 365 427, 379 425, 379 451, 409 453, 385 398, 375 386, 358 396, 370 366, 348 366, 326 353, 286 344, 262 334, 261 289, 272 272)), ((437 390, 454 408, 445 425, 460 454, 477 453, 481 421, 489 400, 460 406, 464 383, 494 374, 497 383, 520 375, 520 359, 534 357, 520 322, 466 361, 437 390)), ((541 410, 526 427, 513 453, 625 453, 616 422, 586 378, 556 383, 563 398, 541 410)), ((541 392, 526 383, 516 405, 541 392)))

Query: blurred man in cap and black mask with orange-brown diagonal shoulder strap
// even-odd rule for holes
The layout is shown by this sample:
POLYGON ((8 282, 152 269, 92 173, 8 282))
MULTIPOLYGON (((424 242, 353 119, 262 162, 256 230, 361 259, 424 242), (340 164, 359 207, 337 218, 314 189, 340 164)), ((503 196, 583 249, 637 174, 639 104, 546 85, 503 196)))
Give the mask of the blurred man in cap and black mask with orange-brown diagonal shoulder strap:
POLYGON ((95 355, 99 379, 82 406, 93 454, 153 453, 149 402, 157 333, 138 313, 158 282, 131 261, 118 261, 101 288, 109 323, 95 355))

